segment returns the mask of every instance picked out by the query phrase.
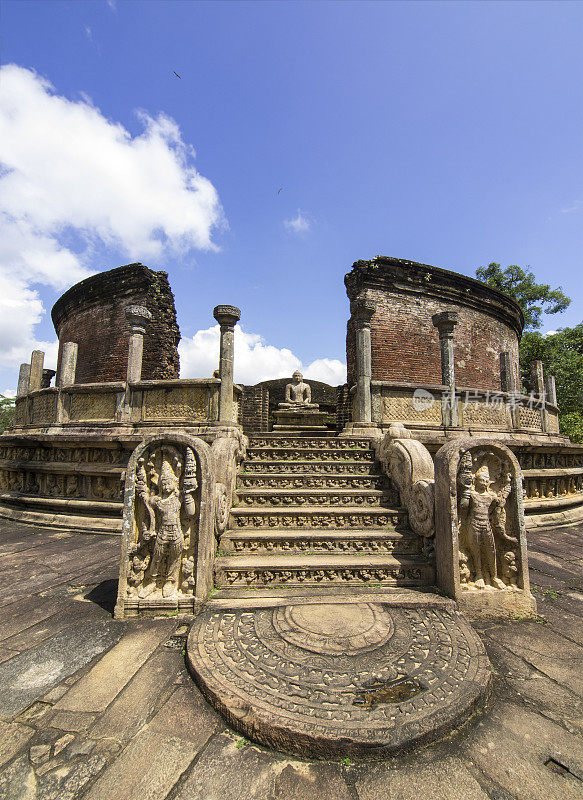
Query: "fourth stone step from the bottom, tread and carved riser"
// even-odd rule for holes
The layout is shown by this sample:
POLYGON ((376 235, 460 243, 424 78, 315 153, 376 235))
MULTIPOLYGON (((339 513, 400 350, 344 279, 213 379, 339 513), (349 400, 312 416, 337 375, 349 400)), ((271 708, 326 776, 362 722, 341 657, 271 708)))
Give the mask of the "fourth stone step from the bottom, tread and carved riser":
MULTIPOLYGON (((383 489, 244 489, 237 492, 240 506, 391 506, 383 489)), ((391 500, 393 501, 391 503, 391 500)))

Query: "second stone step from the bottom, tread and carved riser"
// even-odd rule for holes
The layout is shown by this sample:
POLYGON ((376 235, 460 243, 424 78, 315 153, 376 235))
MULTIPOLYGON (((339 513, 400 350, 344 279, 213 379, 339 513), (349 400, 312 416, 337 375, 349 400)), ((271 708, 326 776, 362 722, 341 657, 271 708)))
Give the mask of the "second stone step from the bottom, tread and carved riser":
POLYGON ((368 529, 348 531, 242 530, 221 538, 222 555, 250 553, 398 553, 420 555, 423 540, 403 526, 403 532, 368 529))

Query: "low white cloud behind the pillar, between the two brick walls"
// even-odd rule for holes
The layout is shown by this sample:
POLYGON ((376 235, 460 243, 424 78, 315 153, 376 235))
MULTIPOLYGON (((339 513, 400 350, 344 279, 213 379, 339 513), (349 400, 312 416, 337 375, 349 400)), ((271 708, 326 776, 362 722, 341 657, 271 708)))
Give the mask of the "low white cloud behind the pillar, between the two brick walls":
MULTIPOLYGON (((180 376, 206 378, 219 365, 220 328, 218 325, 197 331, 192 337, 182 339, 180 376)), ((319 358, 306 367, 291 350, 266 344, 256 333, 245 333, 235 326, 235 381, 253 385, 273 378, 289 378, 299 369, 306 378, 337 386, 346 381, 346 364, 337 359, 319 358)))

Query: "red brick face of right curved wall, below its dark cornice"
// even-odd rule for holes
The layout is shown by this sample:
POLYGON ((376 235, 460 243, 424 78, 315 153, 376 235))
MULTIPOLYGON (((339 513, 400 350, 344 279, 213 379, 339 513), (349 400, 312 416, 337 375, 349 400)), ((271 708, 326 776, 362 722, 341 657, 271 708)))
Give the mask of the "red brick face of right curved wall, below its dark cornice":
MULTIPOLYGON (((463 276, 458 277, 460 282, 468 281, 463 276)), ((356 287, 351 286, 352 291, 355 288, 363 291, 364 283, 355 283, 356 287)), ((458 313, 459 322, 454 329, 458 386, 500 390, 500 354, 505 350, 512 353, 518 374, 517 331, 510 323, 506 324, 487 310, 465 305, 461 288, 459 301, 451 297, 432 297, 429 292, 403 292, 395 285, 387 288, 368 285, 365 291, 366 296, 376 303, 371 320, 373 380, 441 384, 439 334, 431 322, 432 315, 441 311, 458 313)), ((451 288, 449 294, 452 294, 451 288)), ((356 380, 356 340, 352 319, 347 325, 346 351, 348 383, 352 385, 356 380)))

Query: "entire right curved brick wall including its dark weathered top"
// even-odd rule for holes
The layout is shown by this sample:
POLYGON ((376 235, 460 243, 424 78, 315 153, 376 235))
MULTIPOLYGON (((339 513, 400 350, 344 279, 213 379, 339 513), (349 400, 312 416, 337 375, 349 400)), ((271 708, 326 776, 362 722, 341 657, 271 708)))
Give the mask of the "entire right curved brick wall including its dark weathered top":
MULTIPOLYGON (((486 284, 449 270, 377 256, 356 261, 345 276, 350 300, 367 297, 376 304, 371 320, 372 379, 441 384, 439 335, 431 317, 456 311, 454 331, 456 384, 500 390, 500 354, 512 354, 524 318, 520 307, 486 284)), ((355 332, 348 320, 348 383, 356 380, 355 332)), ((517 373, 516 373, 517 374, 517 373)))

